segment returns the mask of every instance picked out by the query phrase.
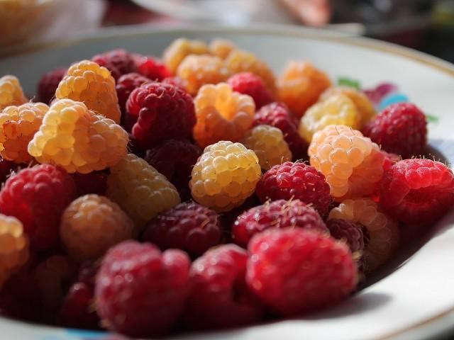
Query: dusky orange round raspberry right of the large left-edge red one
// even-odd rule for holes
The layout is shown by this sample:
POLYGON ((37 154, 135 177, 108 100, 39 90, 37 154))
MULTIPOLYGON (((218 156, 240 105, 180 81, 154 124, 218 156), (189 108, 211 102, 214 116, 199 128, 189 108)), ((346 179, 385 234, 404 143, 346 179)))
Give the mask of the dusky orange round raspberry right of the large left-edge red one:
POLYGON ((116 203, 93 194, 77 198, 66 208, 60 236, 72 259, 86 261, 133 237, 133 229, 133 221, 116 203))

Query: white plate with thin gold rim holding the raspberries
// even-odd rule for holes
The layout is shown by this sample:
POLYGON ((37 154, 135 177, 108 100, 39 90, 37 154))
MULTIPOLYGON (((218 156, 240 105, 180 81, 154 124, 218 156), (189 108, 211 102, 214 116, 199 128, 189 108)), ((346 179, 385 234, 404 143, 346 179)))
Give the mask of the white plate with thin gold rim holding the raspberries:
MULTIPOLYGON (((33 94, 41 74, 116 47, 151 55, 179 37, 228 38, 251 50, 279 71, 289 60, 311 60, 333 79, 349 76, 364 86, 396 83, 426 113, 440 120, 429 127, 430 144, 454 161, 454 67, 418 52, 372 40, 266 26, 253 28, 108 30, 89 38, 0 60, 0 74, 16 74, 33 94)), ((454 213, 438 222, 430 235, 407 244, 392 263, 372 278, 375 282, 334 308, 299 319, 221 331, 172 336, 172 339, 309 340, 426 339, 454 328, 454 213), (389 274, 389 275, 387 275, 389 274), (384 276, 384 277, 383 277, 384 276), (382 278, 383 277, 383 278, 382 278), (382 278, 381 280, 378 280, 382 278)), ((1 339, 82 339, 82 334, 0 319, 1 339)), ((94 336, 94 335, 93 335, 94 336)), ((104 337, 103 334, 98 336, 104 337)), ((92 339, 85 336, 84 339, 92 339)), ((93 338, 95 339, 95 338, 93 338)), ((96 339, 101 339, 97 337, 96 339)))

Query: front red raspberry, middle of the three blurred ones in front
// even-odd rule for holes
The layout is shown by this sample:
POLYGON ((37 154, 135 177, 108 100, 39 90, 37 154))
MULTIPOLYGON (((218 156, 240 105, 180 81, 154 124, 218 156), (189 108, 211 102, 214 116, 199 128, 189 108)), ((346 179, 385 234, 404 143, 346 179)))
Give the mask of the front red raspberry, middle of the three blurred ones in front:
POLYGON ((262 307, 245 284, 248 254, 234 244, 206 251, 192 263, 192 293, 184 321, 193 329, 258 322, 262 307))

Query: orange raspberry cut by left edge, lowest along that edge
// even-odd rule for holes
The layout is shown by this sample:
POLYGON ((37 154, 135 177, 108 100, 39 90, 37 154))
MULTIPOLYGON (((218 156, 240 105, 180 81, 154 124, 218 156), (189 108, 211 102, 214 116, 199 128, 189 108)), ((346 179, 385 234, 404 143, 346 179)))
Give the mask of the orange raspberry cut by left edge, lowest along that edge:
POLYGON ((0 214, 0 287, 28 260, 28 237, 16 217, 0 214))

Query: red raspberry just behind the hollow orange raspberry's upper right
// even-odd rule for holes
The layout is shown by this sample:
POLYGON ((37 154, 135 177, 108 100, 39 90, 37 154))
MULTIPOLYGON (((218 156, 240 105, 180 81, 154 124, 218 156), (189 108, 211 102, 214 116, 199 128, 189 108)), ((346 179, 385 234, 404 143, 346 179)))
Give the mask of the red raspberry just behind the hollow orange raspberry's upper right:
POLYGON ((232 87, 233 91, 251 96, 257 109, 272 102, 270 91, 265 87, 262 79, 253 73, 233 74, 228 78, 227 84, 232 87))

